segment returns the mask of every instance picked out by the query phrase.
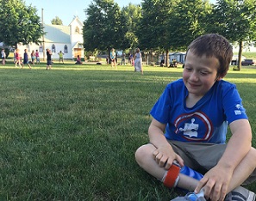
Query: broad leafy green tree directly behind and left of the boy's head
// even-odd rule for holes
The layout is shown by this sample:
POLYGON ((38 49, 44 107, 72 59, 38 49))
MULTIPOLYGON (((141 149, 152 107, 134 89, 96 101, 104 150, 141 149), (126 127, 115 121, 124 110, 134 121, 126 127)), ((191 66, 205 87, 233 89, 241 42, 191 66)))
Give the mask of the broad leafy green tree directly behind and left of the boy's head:
MULTIPOLYGON (((184 50, 203 34, 203 16, 211 9, 202 0, 144 0, 140 21, 140 46, 165 51, 184 50), (148 43, 150 41, 150 43, 148 43)), ((165 64, 168 65, 169 57, 165 64)))

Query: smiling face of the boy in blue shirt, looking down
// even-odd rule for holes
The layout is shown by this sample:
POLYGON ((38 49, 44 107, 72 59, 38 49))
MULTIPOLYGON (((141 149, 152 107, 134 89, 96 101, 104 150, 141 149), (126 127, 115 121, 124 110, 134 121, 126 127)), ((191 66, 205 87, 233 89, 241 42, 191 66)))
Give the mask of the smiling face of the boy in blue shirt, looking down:
POLYGON ((183 80, 189 94, 198 98, 203 97, 214 85, 217 79, 217 58, 207 58, 205 55, 198 57, 189 50, 187 52, 183 80))

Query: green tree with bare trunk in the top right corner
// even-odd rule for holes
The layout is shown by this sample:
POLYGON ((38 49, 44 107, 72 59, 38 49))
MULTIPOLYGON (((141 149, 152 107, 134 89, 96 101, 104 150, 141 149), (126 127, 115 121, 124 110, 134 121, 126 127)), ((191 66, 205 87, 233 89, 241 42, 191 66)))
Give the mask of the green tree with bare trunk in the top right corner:
POLYGON ((240 70, 243 42, 253 44, 256 41, 255 5, 255 0, 220 0, 209 17, 209 31, 239 44, 237 70, 240 70))

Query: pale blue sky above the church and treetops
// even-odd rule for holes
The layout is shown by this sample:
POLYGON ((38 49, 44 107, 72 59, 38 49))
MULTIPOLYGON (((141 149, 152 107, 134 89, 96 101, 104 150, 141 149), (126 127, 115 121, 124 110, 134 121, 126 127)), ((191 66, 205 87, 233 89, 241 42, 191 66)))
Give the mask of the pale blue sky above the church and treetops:
MULTIPOLYGON (((24 0, 26 5, 32 5, 37 9, 37 15, 41 17, 41 9, 43 11, 44 23, 51 24, 53 18, 58 16, 63 22, 63 25, 69 25, 74 16, 78 16, 80 21, 85 20, 84 9, 87 9, 92 0, 24 0)), ((140 4, 142 0, 114 0, 120 8, 127 6, 128 3, 140 4)), ((215 3, 215 0, 210 0, 215 3)))

